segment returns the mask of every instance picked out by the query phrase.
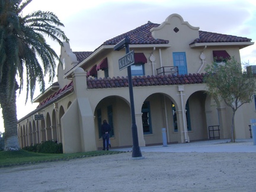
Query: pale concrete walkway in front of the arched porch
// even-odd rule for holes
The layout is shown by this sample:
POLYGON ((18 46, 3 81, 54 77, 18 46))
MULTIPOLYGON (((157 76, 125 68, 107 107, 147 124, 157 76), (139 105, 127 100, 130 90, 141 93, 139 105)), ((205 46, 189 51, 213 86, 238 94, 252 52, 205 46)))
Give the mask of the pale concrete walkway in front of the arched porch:
MULTIPOLYGON (((110 149, 110 151, 132 151, 132 148, 110 149)), ((231 143, 230 139, 206 140, 190 143, 177 143, 167 146, 145 146, 140 147, 141 152, 248 152, 255 153, 256 145, 253 139, 236 139, 235 143, 231 143)))

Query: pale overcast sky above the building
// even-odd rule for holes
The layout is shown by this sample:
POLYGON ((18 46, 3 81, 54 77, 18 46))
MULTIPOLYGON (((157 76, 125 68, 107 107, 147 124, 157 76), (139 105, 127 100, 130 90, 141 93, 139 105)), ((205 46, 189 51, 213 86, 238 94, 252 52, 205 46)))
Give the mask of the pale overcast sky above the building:
MULTIPOLYGON (((248 37, 256 41, 255 0, 33 0, 24 9, 24 14, 36 10, 52 11, 59 17, 65 25, 63 30, 70 39, 71 49, 76 52, 93 51, 104 41, 148 21, 161 24, 174 13, 202 31, 248 37)), ((59 55, 59 44, 52 41, 49 44, 59 55)), ((256 65, 256 45, 242 49, 241 60, 242 63, 256 65)), ((30 101, 25 105, 24 94, 25 89, 17 97, 18 119, 38 105, 32 105, 30 101)), ((37 91, 34 98, 39 94, 37 91)), ((2 119, 0 132, 4 132, 2 119)))

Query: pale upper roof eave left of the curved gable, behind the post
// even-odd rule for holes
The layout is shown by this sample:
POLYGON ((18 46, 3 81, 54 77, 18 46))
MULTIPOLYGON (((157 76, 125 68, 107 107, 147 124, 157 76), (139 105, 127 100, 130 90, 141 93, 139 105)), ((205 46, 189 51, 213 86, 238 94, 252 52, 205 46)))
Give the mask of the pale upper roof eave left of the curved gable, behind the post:
MULTIPOLYGON (((104 45, 101 46, 99 49, 97 49, 94 53, 92 53, 90 56, 88 56, 85 60, 83 60, 81 63, 76 65, 71 71, 66 73, 63 78, 72 78, 72 73, 75 71, 76 68, 79 68, 80 66, 83 66, 85 63, 87 63, 90 59, 97 56, 100 52, 102 52, 104 49, 113 49, 114 50, 115 45, 104 45)), ((130 48, 150 48, 150 47, 162 47, 162 48, 168 48, 171 47, 171 44, 130 44, 130 48)))

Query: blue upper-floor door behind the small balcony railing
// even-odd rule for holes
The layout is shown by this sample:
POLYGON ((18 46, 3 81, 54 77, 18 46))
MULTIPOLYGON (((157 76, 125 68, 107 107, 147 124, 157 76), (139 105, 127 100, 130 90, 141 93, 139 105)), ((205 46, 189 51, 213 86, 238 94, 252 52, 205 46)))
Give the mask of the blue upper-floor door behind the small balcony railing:
POLYGON ((185 52, 172 53, 174 66, 178 67, 178 73, 180 75, 187 74, 187 62, 185 59, 185 52))

